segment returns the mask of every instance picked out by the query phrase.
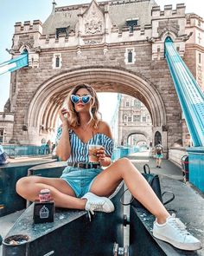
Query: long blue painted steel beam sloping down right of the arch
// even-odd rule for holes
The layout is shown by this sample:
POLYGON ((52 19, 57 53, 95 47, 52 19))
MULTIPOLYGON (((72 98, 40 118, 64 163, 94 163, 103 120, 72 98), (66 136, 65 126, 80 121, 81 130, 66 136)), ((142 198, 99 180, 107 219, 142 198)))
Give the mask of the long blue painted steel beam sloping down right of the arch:
POLYGON ((171 38, 165 40, 165 56, 194 147, 204 146, 204 95, 171 38))

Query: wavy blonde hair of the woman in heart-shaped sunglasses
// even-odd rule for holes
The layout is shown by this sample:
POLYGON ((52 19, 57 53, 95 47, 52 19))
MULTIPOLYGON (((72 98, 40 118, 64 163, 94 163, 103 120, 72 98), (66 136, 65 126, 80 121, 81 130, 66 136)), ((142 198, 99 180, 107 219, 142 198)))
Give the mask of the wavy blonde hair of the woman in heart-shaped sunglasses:
POLYGON ((71 95, 75 95, 76 92, 79 89, 86 89, 90 95, 92 95, 92 100, 91 100, 91 104, 90 104, 90 108, 89 108, 89 114, 90 114, 90 120, 88 121, 88 123, 92 123, 92 127, 93 128, 98 128, 98 124, 99 124, 99 99, 98 96, 96 94, 95 89, 93 89, 90 85, 86 84, 86 83, 82 83, 82 84, 78 84, 76 85, 68 94, 67 97, 67 106, 69 108, 69 113, 70 113, 70 125, 73 127, 77 127, 80 126, 80 119, 79 119, 79 115, 78 113, 75 111, 74 108, 74 104, 71 101, 71 95))

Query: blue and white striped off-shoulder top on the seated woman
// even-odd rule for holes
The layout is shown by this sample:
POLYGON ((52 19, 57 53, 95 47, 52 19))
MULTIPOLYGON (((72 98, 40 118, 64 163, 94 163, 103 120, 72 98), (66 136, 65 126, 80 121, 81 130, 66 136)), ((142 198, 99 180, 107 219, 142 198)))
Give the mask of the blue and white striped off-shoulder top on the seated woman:
MULTIPOLYGON (((62 128, 58 128, 56 135, 56 142, 61 139, 62 128)), ((114 147, 113 140, 104 134, 93 135, 92 138, 84 143, 80 138, 73 132, 72 129, 69 130, 69 141, 71 147, 71 154, 67 162, 88 162, 88 145, 101 145, 105 148, 105 154, 112 156, 112 151, 114 147)))

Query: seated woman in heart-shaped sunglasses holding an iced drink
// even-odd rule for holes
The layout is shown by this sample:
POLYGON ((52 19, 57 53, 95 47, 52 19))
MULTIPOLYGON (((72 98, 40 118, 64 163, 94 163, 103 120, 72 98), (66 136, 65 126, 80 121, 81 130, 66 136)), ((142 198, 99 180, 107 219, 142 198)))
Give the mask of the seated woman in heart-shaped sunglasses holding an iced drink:
POLYGON ((169 215, 130 160, 123 158, 112 163, 111 129, 99 121, 98 110, 99 101, 91 86, 80 84, 73 88, 68 95, 68 111, 65 108, 60 111, 62 125, 56 148, 56 154, 67 161, 67 167, 60 179, 22 178, 16 184, 17 193, 34 201, 41 189, 49 188, 56 207, 111 213, 114 206, 107 197, 124 180, 131 194, 156 216, 153 227, 156 238, 184 250, 200 249, 201 242, 169 215), (102 146, 97 151, 98 163, 88 161, 89 144, 102 146))

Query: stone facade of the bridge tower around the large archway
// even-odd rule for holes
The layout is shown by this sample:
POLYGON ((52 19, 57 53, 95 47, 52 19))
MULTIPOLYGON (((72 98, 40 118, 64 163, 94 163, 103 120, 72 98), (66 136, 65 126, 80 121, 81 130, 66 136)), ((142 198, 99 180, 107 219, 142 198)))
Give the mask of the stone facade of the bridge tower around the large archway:
MULTIPOLYGON (((92 0, 60 8, 54 3, 43 24, 16 23, 12 51, 18 56, 28 50, 29 67, 11 75, 4 112, 14 115, 13 133, 4 142, 39 145, 42 138, 48 140, 67 93, 87 82, 99 92, 118 92, 143 102, 150 112, 152 138, 161 133, 167 150, 182 139, 182 111, 164 59, 166 37, 171 36, 195 76, 198 49, 203 62, 203 41, 199 46, 192 37, 191 43, 186 41, 187 31, 198 26, 188 27, 187 18, 183 4, 160 10, 153 0, 92 0), (194 57, 194 64, 188 56, 194 57)), ((192 16, 196 19, 203 35, 203 21, 192 16)))

